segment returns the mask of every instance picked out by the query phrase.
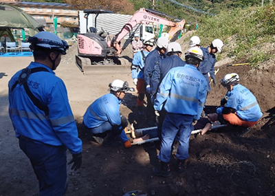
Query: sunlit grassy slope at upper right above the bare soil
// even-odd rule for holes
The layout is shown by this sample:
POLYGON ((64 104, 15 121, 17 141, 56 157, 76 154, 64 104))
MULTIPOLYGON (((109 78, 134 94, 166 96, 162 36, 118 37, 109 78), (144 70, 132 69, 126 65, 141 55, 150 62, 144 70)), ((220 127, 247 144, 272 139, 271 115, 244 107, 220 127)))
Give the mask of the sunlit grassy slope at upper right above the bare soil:
POLYGON ((201 38, 201 45, 209 45, 219 38, 225 43, 223 51, 229 57, 258 65, 272 56, 271 52, 265 52, 265 47, 275 41, 274 10, 275 6, 237 8, 222 11, 216 17, 204 17, 197 36, 201 38))

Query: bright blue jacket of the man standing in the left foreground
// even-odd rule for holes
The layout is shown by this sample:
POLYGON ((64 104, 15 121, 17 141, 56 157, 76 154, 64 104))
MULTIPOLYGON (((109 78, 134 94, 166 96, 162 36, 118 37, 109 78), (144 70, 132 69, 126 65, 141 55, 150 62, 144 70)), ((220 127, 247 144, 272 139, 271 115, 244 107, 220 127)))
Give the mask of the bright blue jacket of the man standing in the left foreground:
POLYGON ((82 151, 82 142, 78 138, 76 122, 69 106, 67 89, 63 80, 55 76, 52 69, 40 64, 30 63, 28 68, 44 67, 49 72, 36 72, 28 78, 28 85, 32 94, 43 105, 47 105, 50 112, 46 116, 30 100, 23 85, 12 86, 19 78, 22 70, 14 74, 8 83, 9 113, 17 137, 23 135, 32 140, 50 144, 52 146, 65 145, 72 154, 82 151))

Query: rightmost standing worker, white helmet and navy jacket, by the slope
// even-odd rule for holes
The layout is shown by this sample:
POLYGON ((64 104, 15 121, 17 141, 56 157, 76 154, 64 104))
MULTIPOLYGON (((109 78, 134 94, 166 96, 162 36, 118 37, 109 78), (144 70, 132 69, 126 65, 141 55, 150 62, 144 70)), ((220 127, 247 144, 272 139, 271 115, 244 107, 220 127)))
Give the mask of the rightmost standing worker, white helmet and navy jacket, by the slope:
MULTIPOLYGON (((215 71, 214 65, 216 63, 215 54, 217 52, 221 52, 222 47, 223 47, 223 42, 220 39, 214 39, 214 41, 212 41, 212 43, 208 47, 200 47, 203 52, 204 59, 199 65, 198 69, 199 69, 199 72, 203 74, 204 78, 206 78, 206 81, 208 83, 207 94, 209 93, 209 91, 211 91, 208 73, 210 74, 210 77, 213 80, 214 87, 216 87, 218 84, 216 80, 216 76, 214 74, 214 71, 215 71)), ((206 116, 206 113, 204 113, 204 111, 203 111, 203 116, 206 116)))

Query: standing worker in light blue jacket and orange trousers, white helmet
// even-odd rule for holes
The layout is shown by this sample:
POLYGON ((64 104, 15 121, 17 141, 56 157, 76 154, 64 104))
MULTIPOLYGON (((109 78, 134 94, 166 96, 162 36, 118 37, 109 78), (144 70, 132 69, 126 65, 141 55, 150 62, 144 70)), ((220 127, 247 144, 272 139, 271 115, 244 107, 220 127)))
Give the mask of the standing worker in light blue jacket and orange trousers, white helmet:
POLYGON ((153 49, 155 45, 155 39, 146 38, 143 41, 144 49, 137 52, 133 56, 133 61, 131 65, 131 72, 133 78, 133 84, 137 87, 137 111, 139 115, 144 115, 143 112, 143 100, 145 96, 145 83, 144 83, 144 63, 145 58, 153 49))

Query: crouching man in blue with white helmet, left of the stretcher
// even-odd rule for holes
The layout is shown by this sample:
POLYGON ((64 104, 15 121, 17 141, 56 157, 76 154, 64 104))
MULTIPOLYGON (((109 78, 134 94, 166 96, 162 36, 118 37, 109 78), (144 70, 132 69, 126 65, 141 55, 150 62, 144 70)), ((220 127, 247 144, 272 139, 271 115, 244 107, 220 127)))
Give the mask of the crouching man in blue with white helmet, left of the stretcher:
POLYGON ((102 146, 121 146, 122 143, 115 140, 116 136, 119 136, 120 140, 124 142, 124 146, 129 148, 131 142, 124 132, 128 120, 126 117, 120 116, 120 102, 124 98, 125 92, 130 90, 129 84, 122 80, 113 80, 109 87, 109 94, 98 98, 87 108, 83 116, 83 124, 94 137, 104 138, 102 146))

